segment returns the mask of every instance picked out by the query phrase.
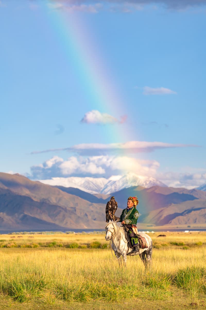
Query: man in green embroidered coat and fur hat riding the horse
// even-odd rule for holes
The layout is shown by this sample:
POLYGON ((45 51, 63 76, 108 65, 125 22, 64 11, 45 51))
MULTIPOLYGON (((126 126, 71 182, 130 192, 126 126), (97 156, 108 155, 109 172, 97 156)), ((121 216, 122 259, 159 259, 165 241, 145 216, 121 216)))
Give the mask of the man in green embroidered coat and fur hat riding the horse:
POLYGON ((139 217, 139 212, 136 209, 138 205, 137 197, 129 197, 127 201, 127 208, 122 211, 119 222, 128 228, 129 239, 132 245, 132 251, 128 255, 137 255, 139 252, 138 238, 137 234, 137 219, 139 217))

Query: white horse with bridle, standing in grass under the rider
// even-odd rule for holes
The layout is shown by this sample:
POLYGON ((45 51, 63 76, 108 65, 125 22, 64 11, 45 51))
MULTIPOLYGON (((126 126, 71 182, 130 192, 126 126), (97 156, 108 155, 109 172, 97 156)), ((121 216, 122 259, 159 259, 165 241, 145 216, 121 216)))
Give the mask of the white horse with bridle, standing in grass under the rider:
MULTIPOLYGON (((105 227, 107 241, 111 240, 111 247, 115 252, 116 258, 118 259, 120 265, 120 258, 123 258, 124 266, 127 263, 127 255, 131 252, 129 247, 128 235, 123 227, 117 226, 116 222, 109 221, 105 227)), ((148 267, 152 262, 152 239, 144 232, 139 233, 142 237, 145 237, 147 241, 148 248, 139 249, 141 260, 143 261, 145 267, 148 267)))

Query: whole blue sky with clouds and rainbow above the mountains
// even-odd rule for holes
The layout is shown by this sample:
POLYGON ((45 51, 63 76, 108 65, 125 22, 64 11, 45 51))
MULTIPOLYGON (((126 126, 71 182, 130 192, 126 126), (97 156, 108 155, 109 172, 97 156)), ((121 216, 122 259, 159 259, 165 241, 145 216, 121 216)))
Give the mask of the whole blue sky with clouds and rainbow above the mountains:
POLYGON ((0 171, 206 183, 206 0, 0 1, 0 171))

